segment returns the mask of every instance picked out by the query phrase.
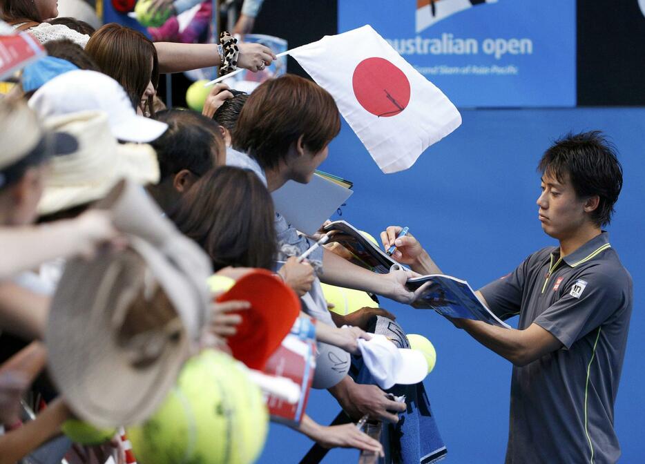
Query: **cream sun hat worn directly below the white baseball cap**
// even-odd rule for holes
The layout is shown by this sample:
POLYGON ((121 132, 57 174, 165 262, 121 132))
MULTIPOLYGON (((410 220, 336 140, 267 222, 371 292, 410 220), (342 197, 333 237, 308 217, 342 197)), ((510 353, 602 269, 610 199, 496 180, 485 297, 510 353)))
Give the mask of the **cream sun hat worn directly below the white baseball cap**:
POLYGON ((50 131, 76 137, 79 148, 52 159, 38 213, 47 215, 99 200, 122 178, 137 184, 159 181, 159 163, 146 144, 119 144, 101 111, 84 111, 46 120, 50 131))

